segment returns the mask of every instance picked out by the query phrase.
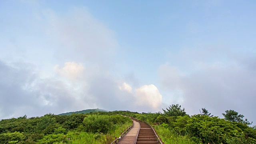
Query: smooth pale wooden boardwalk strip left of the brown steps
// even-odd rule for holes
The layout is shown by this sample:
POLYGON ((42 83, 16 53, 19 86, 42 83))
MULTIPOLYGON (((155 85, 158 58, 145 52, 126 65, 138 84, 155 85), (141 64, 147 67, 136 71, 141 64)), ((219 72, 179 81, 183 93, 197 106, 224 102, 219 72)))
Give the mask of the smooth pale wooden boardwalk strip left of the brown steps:
POLYGON ((133 128, 118 142, 118 144, 134 144, 140 130, 140 123, 134 120, 133 128))

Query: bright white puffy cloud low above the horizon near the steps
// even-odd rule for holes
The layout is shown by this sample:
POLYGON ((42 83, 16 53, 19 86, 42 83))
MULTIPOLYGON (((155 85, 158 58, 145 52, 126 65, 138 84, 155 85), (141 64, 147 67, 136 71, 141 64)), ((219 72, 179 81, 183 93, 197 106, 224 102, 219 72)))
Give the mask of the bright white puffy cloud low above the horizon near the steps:
POLYGON ((154 84, 144 85, 136 89, 136 104, 159 109, 162 104, 162 95, 154 84))

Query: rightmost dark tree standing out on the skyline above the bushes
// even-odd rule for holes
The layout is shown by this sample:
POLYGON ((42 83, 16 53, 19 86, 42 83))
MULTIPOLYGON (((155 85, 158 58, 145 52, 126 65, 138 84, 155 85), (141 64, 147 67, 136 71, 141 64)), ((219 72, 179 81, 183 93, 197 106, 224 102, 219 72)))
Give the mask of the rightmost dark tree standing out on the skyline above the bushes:
POLYGON ((247 125, 252 124, 252 122, 248 122, 247 119, 243 120, 244 115, 242 115, 242 114, 238 115, 238 112, 236 112, 234 110, 226 110, 225 112, 226 112, 226 114, 222 114, 224 116, 225 120, 229 120, 231 122, 241 122, 241 123, 247 124, 247 125))

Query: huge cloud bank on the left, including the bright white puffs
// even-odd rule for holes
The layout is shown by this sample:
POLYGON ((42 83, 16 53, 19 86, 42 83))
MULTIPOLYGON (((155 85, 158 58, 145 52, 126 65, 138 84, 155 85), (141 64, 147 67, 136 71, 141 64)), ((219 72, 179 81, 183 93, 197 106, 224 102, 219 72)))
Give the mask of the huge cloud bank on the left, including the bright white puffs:
POLYGON ((20 35, 38 36, 14 36, 15 41, 0 43, 14 51, 6 51, 8 57, 19 57, 16 63, 0 54, 0 119, 89 108, 160 110, 162 95, 156 86, 133 87, 111 74, 118 48, 114 31, 86 8, 64 14, 50 9, 30 12, 33 22, 20 35))

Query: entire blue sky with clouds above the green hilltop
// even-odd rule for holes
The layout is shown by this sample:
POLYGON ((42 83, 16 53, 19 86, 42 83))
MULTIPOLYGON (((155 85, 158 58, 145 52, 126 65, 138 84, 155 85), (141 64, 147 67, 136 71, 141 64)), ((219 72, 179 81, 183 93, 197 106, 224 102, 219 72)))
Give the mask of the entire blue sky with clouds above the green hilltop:
POLYGON ((0 119, 180 104, 256 123, 254 0, 1 0, 0 119))

